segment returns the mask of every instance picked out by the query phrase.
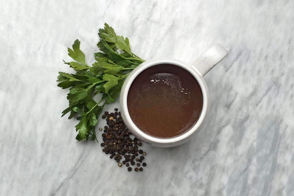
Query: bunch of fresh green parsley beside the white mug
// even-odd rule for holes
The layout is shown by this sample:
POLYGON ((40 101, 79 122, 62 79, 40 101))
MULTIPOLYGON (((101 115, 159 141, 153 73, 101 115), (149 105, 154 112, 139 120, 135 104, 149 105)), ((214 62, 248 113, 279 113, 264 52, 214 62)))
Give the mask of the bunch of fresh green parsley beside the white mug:
POLYGON ((104 29, 99 29, 98 36, 100 41, 97 46, 101 52, 94 54, 96 62, 92 66, 86 64, 85 54, 80 50, 80 41, 77 39, 72 49, 68 48, 69 56, 75 61, 64 61, 76 73, 59 72, 57 77, 57 82, 60 82, 57 86, 70 88, 67 94, 69 107, 62 112, 61 117, 70 112, 69 119, 72 119, 78 114, 78 141, 96 139, 98 142, 95 127, 103 107, 116 101, 130 71, 144 62, 131 52, 128 38, 117 36, 108 24, 104 24, 104 29), (102 97, 96 102, 93 97, 98 94, 102 94, 102 97))

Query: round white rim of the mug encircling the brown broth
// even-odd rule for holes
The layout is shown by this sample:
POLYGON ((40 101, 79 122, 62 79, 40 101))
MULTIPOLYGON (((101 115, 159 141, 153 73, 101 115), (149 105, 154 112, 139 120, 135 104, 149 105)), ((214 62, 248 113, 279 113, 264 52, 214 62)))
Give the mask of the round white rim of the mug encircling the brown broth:
MULTIPOLYGON (((142 137, 148 141, 151 142, 156 142, 156 143, 161 143, 161 144, 168 144, 168 143, 175 143, 175 142, 179 142, 182 141, 186 138, 188 138, 190 135, 192 135, 200 126, 201 124, 204 122, 207 110, 208 110, 208 89, 206 86, 205 81, 203 80, 203 77, 201 76, 200 73, 198 73, 198 71, 195 69, 191 69, 191 65, 180 61, 178 59, 174 59, 174 58, 156 58, 156 59, 150 59, 147 60, 145 62, 143 62, 142 64, 138 65, 138 67, 136 67, 135 69, 133 69, 133 71, 131 71, 131 73, 128 75, 127 79, 124 81, 123 83, 123 92, 121 92, 121 96, 120 96, 120 103, 122 103, 121 107, 123 108, 122 112, 122 118, 123 121, 132 127, 132 133, 135 135, 139 135, 139 137, 142 137), (196 81, 198 82, 199 86, 201 87, 201 92, 202 92, 202 96, 203 96, 203 105, 202 105, 202 111, 201 114, 199 116, 199 119, 197 120, 197 122, 190 127, 190 129, 188 131, 186 131, 183 134, 180 134, 178 136, 175 137, 171 137, 171 138, 158 138, 158 137, 153 137, 149 134, 146 134, 145 132, 143 132, 131 119, 131 116, 128 112, 128 104, 127 104, 127 98, 128 98, 128 91, 131 87, 131 85, 133 84, 134 79, 141 73, 143 72, 145 69, 148 69, 149 67, 158 65, 158 64, 173 64, 179 67, 182 67, 183 69, 186 69, 190 74, 193 75, 193 77, 196 79, 196 81)), ((130 129, 131 127, 128 128, 130 129)), ((146 142, 148 143, 148 142, 146 142)))

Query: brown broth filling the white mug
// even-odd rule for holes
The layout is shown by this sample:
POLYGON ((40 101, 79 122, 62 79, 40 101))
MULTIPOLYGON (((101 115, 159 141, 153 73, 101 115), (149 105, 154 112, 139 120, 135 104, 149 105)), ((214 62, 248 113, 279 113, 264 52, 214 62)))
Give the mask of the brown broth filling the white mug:
POLYGON ((139 129, 153 137, 170 138, 185 133, 197 122, 203 96, 198 82, 186 69, 160 64, 136 77, 127 103, 139 129))

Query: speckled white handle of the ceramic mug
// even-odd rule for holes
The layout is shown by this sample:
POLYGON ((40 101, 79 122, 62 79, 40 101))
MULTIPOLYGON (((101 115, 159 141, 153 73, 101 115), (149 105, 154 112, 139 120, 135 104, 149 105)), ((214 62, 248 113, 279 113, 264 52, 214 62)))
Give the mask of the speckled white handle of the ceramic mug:
POLYGON ((209 72, 216 64, 218 64, 228 51, 220 44, 213 44, 192 64, 192 68, 198 71, 202 77, 209 72))

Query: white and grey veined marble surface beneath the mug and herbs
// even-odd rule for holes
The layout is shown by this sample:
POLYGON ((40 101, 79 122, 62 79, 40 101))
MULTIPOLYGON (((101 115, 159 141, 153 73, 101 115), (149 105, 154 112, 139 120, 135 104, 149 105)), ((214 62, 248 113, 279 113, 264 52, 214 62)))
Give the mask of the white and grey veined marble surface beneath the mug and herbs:
POLYGON ((0 195, 294 195, 294 1, 185 2, 1 1, 0 195), (145 145, 141 173, 76 143, 76 120, 60 118, 66 48, 79 39, 91 63, 104 22, 143 59, 229 51, 204 77, 212 107, 197 139, 145 145))

